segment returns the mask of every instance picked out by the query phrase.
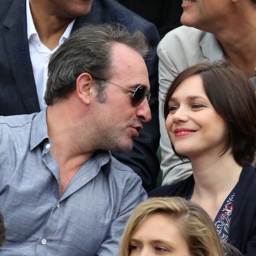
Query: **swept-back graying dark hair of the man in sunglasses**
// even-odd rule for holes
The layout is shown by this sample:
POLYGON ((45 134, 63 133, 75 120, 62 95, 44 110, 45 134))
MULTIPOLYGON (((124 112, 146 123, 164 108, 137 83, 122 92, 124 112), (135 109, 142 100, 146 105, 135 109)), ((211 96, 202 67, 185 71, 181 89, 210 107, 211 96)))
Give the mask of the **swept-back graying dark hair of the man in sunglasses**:
MULTIPOLYGON (((76 89, 76 79, 82 73, 95 78, 106 78, 111 73, 113 43, 123 43, 141 56, 148 54, 145 36, 136 30, 130 34, 126 27, 117 24, 85 25, 76 30, 50 57, 45 103, 53 105, 67 98, 76 89)), ((104 102, 105 83, 96 81, 98 101, 104 102)))

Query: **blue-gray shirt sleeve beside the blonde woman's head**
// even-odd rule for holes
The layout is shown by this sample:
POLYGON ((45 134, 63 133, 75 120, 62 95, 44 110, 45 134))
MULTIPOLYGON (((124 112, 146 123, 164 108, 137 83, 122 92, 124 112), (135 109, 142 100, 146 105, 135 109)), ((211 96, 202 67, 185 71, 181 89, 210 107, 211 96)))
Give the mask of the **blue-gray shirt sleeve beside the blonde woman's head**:
POLYGON ((117 216, 111 223, 109 233, 98 249, 97 256, 117 255, 119 241, 128 218, 137 205, 145 200, 147 200, 147 194, 141 185, 141 179, 133 173, 123 191, 122 200, 119 209, 117 209, 117 216))

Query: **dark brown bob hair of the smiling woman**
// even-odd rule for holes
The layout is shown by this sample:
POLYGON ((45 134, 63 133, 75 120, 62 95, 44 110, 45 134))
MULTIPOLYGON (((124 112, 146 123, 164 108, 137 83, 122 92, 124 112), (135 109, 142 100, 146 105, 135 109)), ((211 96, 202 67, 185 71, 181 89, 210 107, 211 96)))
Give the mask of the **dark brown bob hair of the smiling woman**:
MULTIPOLYGON (((224 61, 201 63, 181 72, 169 87, 163 103, 164 117, 169 114, 169 99, 188 77, 200 75, 215 111, 226 121, 226 145, 221 155, 232 150, 235 161, 243 166, 253 161, 256 151, 256 94, 245 75, 224 61)), ((172 144, 173 147, 173 144, 172 144)), ((186 156, 174 153, 181 159, 186 156)))

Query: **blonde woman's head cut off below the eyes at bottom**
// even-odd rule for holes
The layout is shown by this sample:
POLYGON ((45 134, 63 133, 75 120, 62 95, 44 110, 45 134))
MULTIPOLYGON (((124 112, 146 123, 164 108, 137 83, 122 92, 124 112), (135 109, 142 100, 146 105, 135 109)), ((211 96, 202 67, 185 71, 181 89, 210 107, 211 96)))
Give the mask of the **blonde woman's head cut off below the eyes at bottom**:
MULTIPOLYGON (((235 251, 233 251, 235 252, 235 251)), ((131 215, 119 256, 224 256, 207 213, 179 197, 151 198, 131 215)))

